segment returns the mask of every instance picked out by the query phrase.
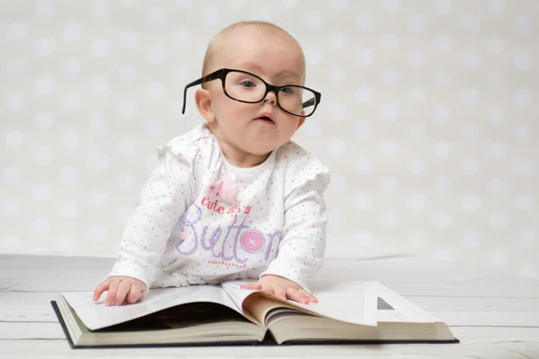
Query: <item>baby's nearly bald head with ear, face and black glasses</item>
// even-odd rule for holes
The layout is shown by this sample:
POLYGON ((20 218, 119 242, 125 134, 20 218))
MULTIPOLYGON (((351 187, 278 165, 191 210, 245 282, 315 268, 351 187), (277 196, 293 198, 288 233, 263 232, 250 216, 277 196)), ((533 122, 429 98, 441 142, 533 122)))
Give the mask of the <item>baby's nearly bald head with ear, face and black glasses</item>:
POLYGON ((305 57, 299 43, 269 22, 238 22, 220 31, 204 58, 202 78, 208 74, 213 76, 195 94, 199 113, 225 156, 238 157, 244 164, 253 162, 242 158, 263 161, 286 144, 320 101, 320 94, 308 89, 265 85, 305 83, 305 57))

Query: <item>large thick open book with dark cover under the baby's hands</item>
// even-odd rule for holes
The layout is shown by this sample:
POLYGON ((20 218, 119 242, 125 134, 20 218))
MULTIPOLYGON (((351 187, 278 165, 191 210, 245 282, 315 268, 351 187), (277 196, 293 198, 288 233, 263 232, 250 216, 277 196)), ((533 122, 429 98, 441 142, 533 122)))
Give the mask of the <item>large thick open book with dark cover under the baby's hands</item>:
POLYGON ((152 289, 123 306, 75 292, 51 303, 72 347, 458 342, 446 324, 377 282, 314 283, 318 302, 309 304, 243 283, 152 289))

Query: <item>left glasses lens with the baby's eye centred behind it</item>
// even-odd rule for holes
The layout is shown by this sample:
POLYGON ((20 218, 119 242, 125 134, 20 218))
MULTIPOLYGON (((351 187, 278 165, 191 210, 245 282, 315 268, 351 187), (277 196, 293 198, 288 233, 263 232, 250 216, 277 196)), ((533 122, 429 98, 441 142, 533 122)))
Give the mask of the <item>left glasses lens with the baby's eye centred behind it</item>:
POLYGON ((264 97, 266 85, 253 74, 232 71, 226 74, 225 91, 234 100, 258 102, 264 97))

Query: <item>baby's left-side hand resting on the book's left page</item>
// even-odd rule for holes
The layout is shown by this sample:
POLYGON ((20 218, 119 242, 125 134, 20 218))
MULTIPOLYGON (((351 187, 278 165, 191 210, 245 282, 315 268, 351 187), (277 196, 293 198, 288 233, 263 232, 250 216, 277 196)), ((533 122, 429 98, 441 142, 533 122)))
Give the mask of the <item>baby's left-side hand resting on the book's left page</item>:
POLYGON ((93 292, 93 302, 99 301, 103 292, 109 292, 105 299, 105 305, 121 305, 126 300, 129 304, 140 301, 146 294, 146 285, 138 279, 130 276, 110 276, 105 279, 93 292))

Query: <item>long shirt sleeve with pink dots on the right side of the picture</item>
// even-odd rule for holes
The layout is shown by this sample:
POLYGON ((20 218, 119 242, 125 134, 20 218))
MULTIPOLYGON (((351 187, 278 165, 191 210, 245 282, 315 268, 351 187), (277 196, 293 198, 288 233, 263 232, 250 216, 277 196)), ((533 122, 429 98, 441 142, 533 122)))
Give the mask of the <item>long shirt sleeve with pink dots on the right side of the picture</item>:
POLYGON ((323 267, 327 223, 323 192, 330 181, 329 171, 314 158, 287 182, 296 182, 285 196, 283 238, 278 255, 261 276, 282 276, 308 289, 314 274, 323 267))

